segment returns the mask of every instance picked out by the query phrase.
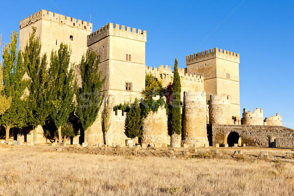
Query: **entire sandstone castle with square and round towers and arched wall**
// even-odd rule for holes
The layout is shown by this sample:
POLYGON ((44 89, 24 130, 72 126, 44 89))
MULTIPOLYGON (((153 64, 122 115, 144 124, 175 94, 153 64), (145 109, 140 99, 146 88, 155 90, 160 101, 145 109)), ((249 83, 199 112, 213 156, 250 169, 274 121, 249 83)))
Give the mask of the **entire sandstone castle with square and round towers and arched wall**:
MULTIPOLYGON (((70 45, 71 63, 75 65, 77 78, 82 55, 87 49, 96 51, 99 69, 106 77, 102 92, 113 98, 114 105, 142 98, 147 73, 158 78, 164 87, 172 82, 170 66, 146 66, 146 30, 108 23, 93 31, 91 23, 40 10, 20 22, 20 49, 24 49, 32 26, 37 27, 42 53, 57 50, 61 42, 70 45)), ((214 48, 187 55, 187 68, 178 68, 184 146, 268 146, 269 135, 276 137, 279 146, 294 146, 290 139, 294 130, 282 126, 279 114, 264 120, 262 109, 257 108, 254 112, 244 109, 241 119, 239 63, 238 53, 214 48)), ((124 134, 126 115, 121 110, 113 112, 108 144, 125 144, 128 139, 124 134)), ((150 112, 143 120, 141 143, 160 147, 170 145, 168 129, 164 108, 150 112)), ((85 131, 84 140, 92 145, 105 143, 100 113, 96 122, 85 131)), ((139 142, 138 138, 136 142, 139 142)))

